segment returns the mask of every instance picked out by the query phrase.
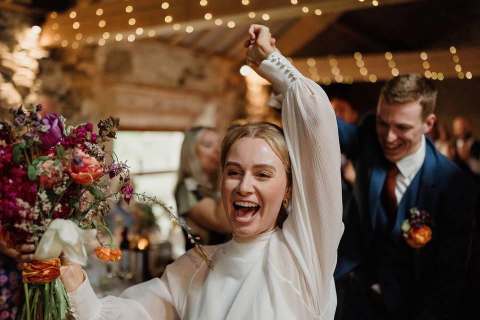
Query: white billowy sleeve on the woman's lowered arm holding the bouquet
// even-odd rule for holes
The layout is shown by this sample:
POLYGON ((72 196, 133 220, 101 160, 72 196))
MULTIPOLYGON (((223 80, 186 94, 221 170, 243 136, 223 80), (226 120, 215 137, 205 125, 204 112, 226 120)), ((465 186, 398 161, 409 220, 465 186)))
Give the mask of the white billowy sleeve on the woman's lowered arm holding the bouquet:
POLYGON ((168 281, 163 277, 131 286, 118 297, 109 295, 102 299, 96 297, 86 277, 68 296, 77 320, 179 319, 168 281))

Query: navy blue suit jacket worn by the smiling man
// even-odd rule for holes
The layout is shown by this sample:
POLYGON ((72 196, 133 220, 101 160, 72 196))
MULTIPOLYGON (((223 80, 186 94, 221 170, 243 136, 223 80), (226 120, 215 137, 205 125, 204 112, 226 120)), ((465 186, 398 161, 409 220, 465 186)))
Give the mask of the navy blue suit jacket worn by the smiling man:
MULTIPOLYGON (((380 192, 387 160, 376 136, 374 114, 367 115, 359 126, 341 119, 337 119, 337 124, 341 152, 352 159, 356 170, 352 195, 343 213, 345 231, 335 270, 335 276, 339 277, 365 261, 376 249, 375 234, 381 221, 378 214, 382 212, 380 192)), ((395 257, 397 253, 392 251, 393 259, 397 260, 379 265, 385 304, 414 304, 413 314, 428 315, 427 318, 437 318, 435 315, 441 318, 454 308, 454 301, 465 285, 476 192, 466 174, 437 152, 434 143, 426 138, 423 165, 400 201, 393 230, 385 237, 398 252, 405 253, 395 257), (402 239, 401 222, 412 207, 426 210, 433 218, 432 238, 418 251, 402 239), (404 276, 405 272, 410 279, 404 276), (395 302, 399 298, 395 290, 407 292, 410 300, 395 302)))

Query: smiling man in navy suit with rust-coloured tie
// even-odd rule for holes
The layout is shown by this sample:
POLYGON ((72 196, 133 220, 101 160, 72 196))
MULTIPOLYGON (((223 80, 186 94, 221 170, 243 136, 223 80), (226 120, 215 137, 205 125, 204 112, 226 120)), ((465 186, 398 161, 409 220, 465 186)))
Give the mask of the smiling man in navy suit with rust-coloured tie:
POLYGON ((443 319, 465 285, 474 228, 472 181, 425 136, 436 89, 417 73, 390 79, 360 126, 337 119, 356 180, 335 270, 336 319, 443 319), (431 240, 413 248, 402 221, 427 211, 431 240))

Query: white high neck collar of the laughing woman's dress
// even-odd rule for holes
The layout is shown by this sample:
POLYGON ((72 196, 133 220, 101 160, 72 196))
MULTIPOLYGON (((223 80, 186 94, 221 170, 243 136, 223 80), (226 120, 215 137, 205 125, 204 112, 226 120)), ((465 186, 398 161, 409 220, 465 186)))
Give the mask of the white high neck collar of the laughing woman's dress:
POLYGON ((233 238, 226 243, 225 254, 240 258, 257 256, 268 245, 271 235, 277 230, 278 227, 268 232, 249 236, 233 234, 233 238))

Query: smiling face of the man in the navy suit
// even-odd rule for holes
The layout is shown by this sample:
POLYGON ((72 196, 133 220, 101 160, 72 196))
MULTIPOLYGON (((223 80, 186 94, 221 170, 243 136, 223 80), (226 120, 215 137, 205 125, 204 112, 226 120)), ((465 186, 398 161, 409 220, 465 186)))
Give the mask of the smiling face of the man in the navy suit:
POLYGON ((418 150, 421 135, 428 132, 435 121, 434 114, 423 119, 421 111, 417 101, 378 104, 376 134, 387 160, 396 162, 418 150))

